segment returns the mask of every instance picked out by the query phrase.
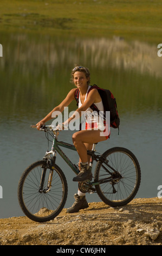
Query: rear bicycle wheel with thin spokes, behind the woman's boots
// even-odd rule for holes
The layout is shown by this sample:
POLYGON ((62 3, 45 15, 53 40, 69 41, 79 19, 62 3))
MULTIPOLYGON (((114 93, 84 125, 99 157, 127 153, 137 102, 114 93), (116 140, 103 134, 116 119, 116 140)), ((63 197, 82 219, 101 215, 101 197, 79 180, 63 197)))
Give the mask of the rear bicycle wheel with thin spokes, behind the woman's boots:
POLYGON ((109 166, 119 172, 120 178, 118 179, 118 174, 116 175, 111 168, 107 167, 104 160, 98 161, 94 181, 101 179, 105 181, 95 186, 96 192, 101 200, 110 206, 128 204, 135 197, 140 186, 141 170, 137 158, 131 151, 121 147, 107 150, 103 153, 103 157, 108 160, 109 166), (109 174, 104 167, 112 174, 109 174))

